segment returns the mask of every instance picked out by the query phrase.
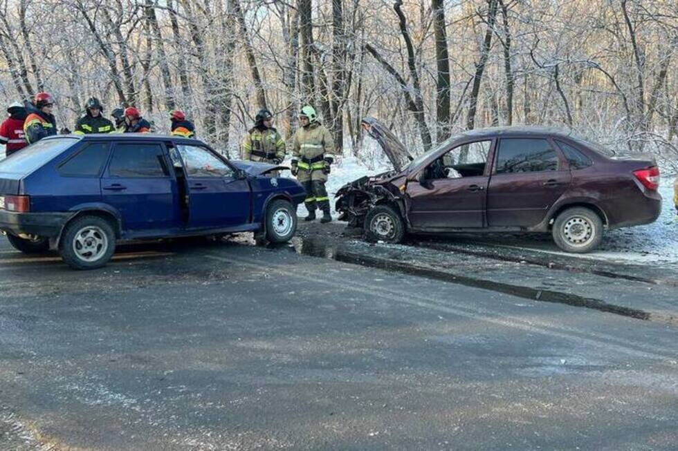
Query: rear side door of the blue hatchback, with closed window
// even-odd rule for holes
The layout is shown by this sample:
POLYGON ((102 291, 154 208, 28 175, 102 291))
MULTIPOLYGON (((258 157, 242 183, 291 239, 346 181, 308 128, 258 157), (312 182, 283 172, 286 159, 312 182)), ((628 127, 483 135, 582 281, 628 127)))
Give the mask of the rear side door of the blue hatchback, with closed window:
POLYGON ((178 226, 176 182, 161 142, 117 143, 100 180, 102 200, 122 217, 122 229, 150 232, 178 226))

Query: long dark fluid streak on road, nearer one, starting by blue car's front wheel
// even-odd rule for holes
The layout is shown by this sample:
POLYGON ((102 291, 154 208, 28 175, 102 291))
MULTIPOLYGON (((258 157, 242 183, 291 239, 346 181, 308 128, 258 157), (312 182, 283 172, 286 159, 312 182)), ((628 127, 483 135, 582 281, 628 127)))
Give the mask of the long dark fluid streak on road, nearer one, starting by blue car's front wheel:
POLYGON ((329 260, 351 263, 353 265, 383 269, 385 271, 425 277, 434 280, 442 280, 443 282, 452 282, 458 285, 464 285, 466 287, 488 289, 491 291, 497 291, 499 293, 509 294, 511 296, 517 296, 519 298, 540 300, 547 303, 565 304, 574 307, 585 307, 588 309, 605 311, 607 313, 628 316, 630 318, 641 320, 650 319, 650 314, 648 312, 627 307, 620 307, 618 305, 611 305, 600 299, 585 298, 583 296, 562 293, 560 291, 553 291, 549 289, 521 287, 517 285, 508 285, 502 282, 493 282, 492 280, 482 280, 460 276, 458 274, 451 274, 430 267, 412 265, 412 263, 408 262, 381 258, 378 256, 369 256, 365 253, 358 253, 356 251, 345 249, 345 247, 340 245, 338 246, 333 244, 329 242, 329 240, 323 240, 322 238, 304 238, 297 236, 292 239, 291 244, 267 244, 266 248, 273 251, 282 252, 295 251, 296 253, 300 253, 304 256, 327 258, 329 260))

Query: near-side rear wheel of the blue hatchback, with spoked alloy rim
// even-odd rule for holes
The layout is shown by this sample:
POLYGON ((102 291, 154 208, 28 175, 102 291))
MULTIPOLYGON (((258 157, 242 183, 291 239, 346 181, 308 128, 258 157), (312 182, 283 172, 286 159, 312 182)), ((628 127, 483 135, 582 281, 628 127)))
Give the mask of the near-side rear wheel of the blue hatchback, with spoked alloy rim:
POLYGON ((106 265, 116 251, 116 233, 108 220, 86 215, 69 222, 59 241, 59 253, 73 269, 106 265))

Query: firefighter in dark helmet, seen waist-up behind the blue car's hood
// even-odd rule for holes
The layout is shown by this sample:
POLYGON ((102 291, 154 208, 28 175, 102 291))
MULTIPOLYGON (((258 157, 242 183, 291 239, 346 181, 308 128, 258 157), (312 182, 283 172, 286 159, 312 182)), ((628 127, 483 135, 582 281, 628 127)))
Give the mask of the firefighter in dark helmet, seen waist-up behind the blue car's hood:
POLYGON ((242 143, 243 160, 280 164, 285 159, 285 142, 273 126, 273 115, 259 110, 255 126, 250 128, 242 143))

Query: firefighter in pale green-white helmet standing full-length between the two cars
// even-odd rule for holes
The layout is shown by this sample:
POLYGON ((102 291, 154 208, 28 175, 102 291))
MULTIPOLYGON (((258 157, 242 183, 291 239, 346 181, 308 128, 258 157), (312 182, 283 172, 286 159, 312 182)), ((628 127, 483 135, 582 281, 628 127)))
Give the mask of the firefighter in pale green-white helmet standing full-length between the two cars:
POLYGON ((294 135, 292 155, 292 175, 306 189, 304 204, 309 215, 306 221, 315 220, 315 208, 322 210, 320 222, 330 222, 329 197, 325 182, 334 159, 334 142, 327 128, 320 124, 318 115, 312 106, 306 105, 299 115, 301 128, 294 135))

